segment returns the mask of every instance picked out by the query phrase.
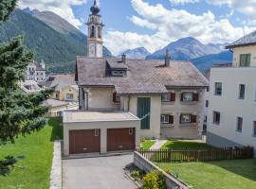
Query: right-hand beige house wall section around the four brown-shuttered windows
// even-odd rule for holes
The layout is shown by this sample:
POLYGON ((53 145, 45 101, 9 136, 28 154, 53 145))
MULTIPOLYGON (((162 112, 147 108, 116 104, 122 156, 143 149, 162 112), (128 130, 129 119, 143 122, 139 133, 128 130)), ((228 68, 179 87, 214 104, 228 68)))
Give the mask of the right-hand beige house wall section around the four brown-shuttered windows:
MULTIPOLYGON (((162 102, 161 114, 174 115, 174 124, 161 124, 161 137, 163 138, 201 138, 203 119, 204 119, 204 105, 205 105, 205 91, 198 90, 170 90, 175 93, 174 102, 162 102), (199 94, 199 100, 194 102, 182 102, 180 100, 181 94, 184 92, 192 92, 199 94), (197 116, 197 123, 180 124, 180 114, 190 113, 197 116)), ((160 119, 160 118, 159 118, 160 119)))

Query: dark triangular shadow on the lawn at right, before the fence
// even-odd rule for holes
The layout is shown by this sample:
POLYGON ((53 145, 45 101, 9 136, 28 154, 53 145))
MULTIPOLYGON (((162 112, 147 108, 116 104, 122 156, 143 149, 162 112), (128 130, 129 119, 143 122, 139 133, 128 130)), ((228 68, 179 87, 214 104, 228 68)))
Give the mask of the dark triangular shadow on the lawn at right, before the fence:
POLYGON ((207 163, 219 166, 248 180, 256 181, 256 159, 224 160, 207 163))

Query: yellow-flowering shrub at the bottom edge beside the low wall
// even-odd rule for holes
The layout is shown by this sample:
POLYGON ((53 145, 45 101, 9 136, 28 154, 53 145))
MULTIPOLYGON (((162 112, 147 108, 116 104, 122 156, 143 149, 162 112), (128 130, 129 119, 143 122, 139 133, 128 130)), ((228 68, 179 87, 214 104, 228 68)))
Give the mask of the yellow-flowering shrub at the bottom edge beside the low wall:
POLYGON ((166 189, 163 174, 154 170, 143 178, 143 189, 166 189))

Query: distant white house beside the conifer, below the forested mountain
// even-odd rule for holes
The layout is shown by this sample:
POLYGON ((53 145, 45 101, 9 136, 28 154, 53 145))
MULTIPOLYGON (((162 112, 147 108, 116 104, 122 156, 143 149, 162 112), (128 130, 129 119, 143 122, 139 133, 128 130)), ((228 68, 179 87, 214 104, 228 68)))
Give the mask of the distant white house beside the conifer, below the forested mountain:
POLYGON ((27 65, 25 80, 34 80, 36 82, 42 82, 46 78, 46 64, 44 60, 40 63, 33 60, 27 65))

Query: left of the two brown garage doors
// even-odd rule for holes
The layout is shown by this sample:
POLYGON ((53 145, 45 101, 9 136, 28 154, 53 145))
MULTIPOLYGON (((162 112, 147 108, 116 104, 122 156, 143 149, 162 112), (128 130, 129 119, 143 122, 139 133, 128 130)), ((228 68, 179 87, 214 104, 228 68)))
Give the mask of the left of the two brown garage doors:
POLYGON ((69 153, 101 152, 101 129, 70 130, 69 153))

